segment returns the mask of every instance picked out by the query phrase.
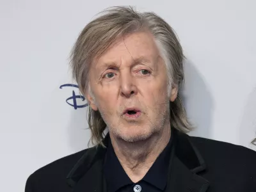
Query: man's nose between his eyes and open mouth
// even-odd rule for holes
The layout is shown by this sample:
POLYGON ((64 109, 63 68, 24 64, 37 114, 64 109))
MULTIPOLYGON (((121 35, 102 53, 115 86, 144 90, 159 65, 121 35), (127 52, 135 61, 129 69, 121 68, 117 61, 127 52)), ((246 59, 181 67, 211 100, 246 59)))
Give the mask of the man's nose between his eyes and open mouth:
POLYGON ((121 75, 120 92, 122 96, 127 98, 137 93, 135 79, 129 72, 121 75))

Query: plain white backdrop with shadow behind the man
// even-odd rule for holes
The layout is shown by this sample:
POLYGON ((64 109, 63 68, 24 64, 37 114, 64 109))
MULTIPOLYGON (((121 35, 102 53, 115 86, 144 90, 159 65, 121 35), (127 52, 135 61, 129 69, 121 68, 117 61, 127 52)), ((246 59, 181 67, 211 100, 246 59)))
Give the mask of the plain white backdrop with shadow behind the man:
POLYGON ((154 11, 177 31, 188 58, 186 108, 198 125, 191 135, 253 148, 256 1, 0 2, 1 191, 24 191, 36 169, 87 147, 86 108, 66 102, 79 92, 60 86, 74 83, 68 56, 77 35, 108 6, 154 11))

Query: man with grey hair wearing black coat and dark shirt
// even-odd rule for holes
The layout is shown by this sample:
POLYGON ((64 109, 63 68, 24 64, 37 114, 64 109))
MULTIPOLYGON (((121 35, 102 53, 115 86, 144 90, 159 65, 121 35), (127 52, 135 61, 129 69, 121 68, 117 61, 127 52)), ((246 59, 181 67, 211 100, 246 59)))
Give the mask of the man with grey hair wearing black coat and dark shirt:
POLYGON ((25 191, 255 192, 255 152, 185 133, 183 60, 173 29, 154 13, 114 7, 90 22, 71 66, 95 147, 40 168, 25 191))

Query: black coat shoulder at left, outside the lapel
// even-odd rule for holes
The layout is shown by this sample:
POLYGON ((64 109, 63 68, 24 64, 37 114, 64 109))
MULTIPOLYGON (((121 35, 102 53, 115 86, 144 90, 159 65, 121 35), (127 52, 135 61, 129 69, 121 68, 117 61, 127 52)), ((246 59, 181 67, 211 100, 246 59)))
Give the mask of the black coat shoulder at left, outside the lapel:
MULTIPOLYGON (((65 183, 68 173, 87 150, 88 149, 85 149, 80 152, 76 152, 75 154, 62 157, 61 159, 53 161, 52 163, 49 163, 36 170, 28 177, 25 191, 34 191, 34 188, 37 188, 38 186, 43 186, 42 188, 49 189, 52 188, 53 182, 55 184, 65 183)), ((39 189, 35 190, 40 191, 39 189)), ((63 191, 65 191, 65 189, 63 189, 63 191)))

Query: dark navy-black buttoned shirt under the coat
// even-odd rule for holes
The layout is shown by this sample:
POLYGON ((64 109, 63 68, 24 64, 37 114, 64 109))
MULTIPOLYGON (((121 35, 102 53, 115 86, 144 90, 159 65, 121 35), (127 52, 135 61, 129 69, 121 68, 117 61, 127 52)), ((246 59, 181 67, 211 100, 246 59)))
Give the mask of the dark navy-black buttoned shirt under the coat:
POLYGON ((143 179, 134 183, 125 173, 124 168, 116 157, 111 140, 109 140, 103 168, 108 192, 163 192, 168 179, 171 150, 172 139, 157 157, 143 179))

